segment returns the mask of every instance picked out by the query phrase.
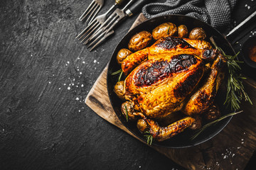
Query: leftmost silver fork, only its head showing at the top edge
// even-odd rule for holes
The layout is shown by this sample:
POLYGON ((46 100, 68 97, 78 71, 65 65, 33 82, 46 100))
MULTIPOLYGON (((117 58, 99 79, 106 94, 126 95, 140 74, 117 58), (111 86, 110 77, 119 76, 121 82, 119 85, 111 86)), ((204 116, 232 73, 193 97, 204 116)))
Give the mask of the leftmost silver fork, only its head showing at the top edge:
POLYGON ((92 0, 91 4, 87 7, 85 12, 82 13, 82 16, 80 16, 79 21, 84 21, 86 16, 88 16, 89 14, 90 14, 90 16, 88 16, 86 22, 90 21, 90 18, 91 18, 91 20, 93 18, 95 18, 97 13, 102 8, 103 4, 104 4, 104 0, 92 0))

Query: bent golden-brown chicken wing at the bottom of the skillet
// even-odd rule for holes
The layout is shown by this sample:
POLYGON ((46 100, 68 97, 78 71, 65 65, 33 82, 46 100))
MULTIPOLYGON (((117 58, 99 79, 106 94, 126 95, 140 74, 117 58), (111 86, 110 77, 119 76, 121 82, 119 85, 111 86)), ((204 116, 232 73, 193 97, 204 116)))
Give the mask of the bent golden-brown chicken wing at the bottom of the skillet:
POLYGON ((167 140, 170 137, 173 137, 174 135, 177 135, 178 133, 182 132, 186 128, 190 127, 194 121, 195 121, 194 118, 187 117, 187 118, 178 120, 167 127, 161 127, 158 125, 158 123, 156 123, 156 121, 151 119, 146 119, 146 122, 150 126, 149 132, 151 133, 151 135, 153 135, 154 139, 156 139, 159 142, 163 140, 167 140))

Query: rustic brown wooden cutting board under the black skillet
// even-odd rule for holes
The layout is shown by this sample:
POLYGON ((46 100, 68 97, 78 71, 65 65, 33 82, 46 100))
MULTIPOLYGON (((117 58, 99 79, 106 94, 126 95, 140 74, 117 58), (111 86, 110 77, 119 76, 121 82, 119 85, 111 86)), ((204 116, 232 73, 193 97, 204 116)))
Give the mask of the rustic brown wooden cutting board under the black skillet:
MULTIPOLYGON (((145 20, 140 14, 132 28, 145 20)), ((247 79, 245 90, 250 94, 252 103, 256 103, 256 82, 247 79)), ((97 115, 132 135, 117 118, 110 104, 107 94, 107 67, 92 86, 85 103, 97 115)), ((256 149, 256 105, 242 103, 241 106, 243 113, 235 115, 224 130, 201 145, 184 149, 151 147, 186 169, 245 169, 256 149)))

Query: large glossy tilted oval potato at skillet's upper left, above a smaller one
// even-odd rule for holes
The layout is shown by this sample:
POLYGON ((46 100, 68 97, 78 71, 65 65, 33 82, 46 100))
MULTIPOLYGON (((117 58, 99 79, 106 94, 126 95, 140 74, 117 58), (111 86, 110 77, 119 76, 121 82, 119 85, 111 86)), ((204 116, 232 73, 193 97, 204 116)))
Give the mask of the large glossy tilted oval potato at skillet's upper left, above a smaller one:
POLYGON ((129 40, 128 48, 132 51, 142 50, 144 47, 149 45, 152 40, 152 35, 146 30, 143 30, 132 36, 129 40))

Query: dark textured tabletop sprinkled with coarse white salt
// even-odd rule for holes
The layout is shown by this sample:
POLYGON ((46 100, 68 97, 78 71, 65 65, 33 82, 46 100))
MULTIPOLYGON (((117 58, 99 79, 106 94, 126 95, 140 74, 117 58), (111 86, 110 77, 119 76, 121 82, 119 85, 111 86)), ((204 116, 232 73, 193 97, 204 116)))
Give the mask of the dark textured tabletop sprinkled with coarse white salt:
MULTIPOLYGON (((85 105, 114 47, 137 18, 89 52, 75 41, 85 27, 78 18, 89 3, 0 0, 0 169, 182 169, 85 105)), ((101 13, 112 4, 105 1, 101 13)), ((234 21, 255 9, 254 1, 238 1, 234 21)), ((255 31, 255 23, 247 30, 255 31)), ((252 35, 247 30, 235 50, 252 35)))

